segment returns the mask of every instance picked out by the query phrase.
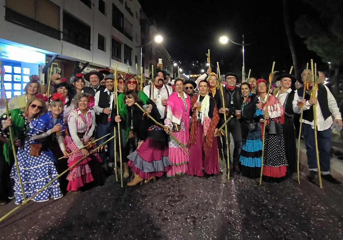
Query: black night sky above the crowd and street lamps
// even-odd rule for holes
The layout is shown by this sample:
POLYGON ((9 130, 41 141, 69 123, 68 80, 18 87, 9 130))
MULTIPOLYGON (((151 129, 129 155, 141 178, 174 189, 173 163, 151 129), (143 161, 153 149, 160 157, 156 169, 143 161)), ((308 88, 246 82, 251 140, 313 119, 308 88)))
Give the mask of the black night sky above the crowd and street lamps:
MULTIPOLYGON (((200 73, 205 69, 204 66, 194 68, 192 63, 199 61, 205 64, 206 53, 210 49, 211 65, 220 62, 221 74, 233 71, 241 76, 242 48, 230 42, 222 45, 219 42, 222 35, 241 43, 244 34, 245 43, 251 43, 245 49, 246 75, 251 68, 251 76, 266 78, 273 61, 276 62, 275 71, 288 72, 293 65, 283 22, 282 1, 140 2, 143 11, 155 19, 172 59, 181 61, 180 67, 186 73, 200 73)), ((313 13, 303 0, 288 1, 288 4, 292 26, 300 15, 306 14, 305 11, 313 13)), ((318 66, 327 67, 320 63, 314 52, 306 49, 302 39, 294 36, 299 67, 310 58, 318 66)), ((215 72, 215 68, 212 71, 215 72)))

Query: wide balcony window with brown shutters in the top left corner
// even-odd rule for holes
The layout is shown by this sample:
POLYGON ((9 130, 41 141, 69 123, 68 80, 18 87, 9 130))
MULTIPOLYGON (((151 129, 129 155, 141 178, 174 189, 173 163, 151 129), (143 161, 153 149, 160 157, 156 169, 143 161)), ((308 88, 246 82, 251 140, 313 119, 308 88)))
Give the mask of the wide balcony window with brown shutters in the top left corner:
POLYGON ((5 20, 61 39, 60 7, 49 0, 6 1, 5 20))

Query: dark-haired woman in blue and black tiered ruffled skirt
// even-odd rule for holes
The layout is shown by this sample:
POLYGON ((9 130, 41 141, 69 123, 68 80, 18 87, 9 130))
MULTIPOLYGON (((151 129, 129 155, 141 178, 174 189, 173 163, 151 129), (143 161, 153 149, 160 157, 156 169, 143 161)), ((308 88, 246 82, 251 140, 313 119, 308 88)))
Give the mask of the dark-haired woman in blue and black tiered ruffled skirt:
MULTIPOLYGON (((243 96, 240 126, 243 146, 240 151, 239 168, 243 176, 258 178, 261 174, 262 141, 260 119, 263 113, 257 108, 258 98, 251 94, 251 85, 242 83, 240 86, 243 96)), ((261 104, 262 105, 262 104, 261 104)))

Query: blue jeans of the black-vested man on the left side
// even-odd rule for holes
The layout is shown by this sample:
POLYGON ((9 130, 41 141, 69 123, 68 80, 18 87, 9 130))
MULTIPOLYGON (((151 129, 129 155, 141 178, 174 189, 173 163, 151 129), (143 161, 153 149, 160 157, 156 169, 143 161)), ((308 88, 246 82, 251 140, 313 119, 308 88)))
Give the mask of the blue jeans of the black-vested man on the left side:
MULTIPOLYGON (((99 146, 100 144, 103 144, 110 137, 113 137, 113 134, 114 134, 114 129, 113 129, 113 126, 110 125, 110 122, 106 124, 97 123, 96 138, 97 139, 101 138, 105 136, 106 134, 110 134, 110 135, 97 141, 97 146, 99 146)), ((107 151, 109 152, 108 162, 113 163, 114 162, 114 139, 111 139, 109 142, 107 142, 107 151)), ((103 161, 102 165, 104 165, 106 163, 105 148, 100 152, 100 158, 103 161)))

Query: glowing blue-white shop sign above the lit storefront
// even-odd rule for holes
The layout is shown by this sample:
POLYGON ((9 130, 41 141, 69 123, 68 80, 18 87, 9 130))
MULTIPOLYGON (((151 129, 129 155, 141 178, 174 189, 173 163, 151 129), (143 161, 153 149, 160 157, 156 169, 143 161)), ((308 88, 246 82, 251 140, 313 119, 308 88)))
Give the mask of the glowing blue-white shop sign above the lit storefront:
POLYGON ((45 65, 45 54, 0 42, 0 58, 45 65))

